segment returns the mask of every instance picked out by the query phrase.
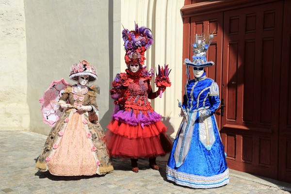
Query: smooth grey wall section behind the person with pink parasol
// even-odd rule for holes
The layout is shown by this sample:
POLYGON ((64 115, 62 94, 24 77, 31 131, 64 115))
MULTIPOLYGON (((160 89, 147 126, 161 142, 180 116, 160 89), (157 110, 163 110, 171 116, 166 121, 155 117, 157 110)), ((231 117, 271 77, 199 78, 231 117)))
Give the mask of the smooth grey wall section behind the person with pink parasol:
POLYGON ((30 130, 48 134, 39 98, 51 81, 70 81, 73 63, 86 60, 98 71, 100 123, 109 123, 110 57, 108 0, 25 0, 30 130))

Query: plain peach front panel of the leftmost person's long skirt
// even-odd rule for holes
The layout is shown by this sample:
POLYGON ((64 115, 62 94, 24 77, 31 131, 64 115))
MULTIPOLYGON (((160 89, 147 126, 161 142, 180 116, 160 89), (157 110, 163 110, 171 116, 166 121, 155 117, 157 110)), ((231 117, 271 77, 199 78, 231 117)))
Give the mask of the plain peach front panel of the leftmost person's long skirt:
POLYGON ((70 118, 48 167, 51 174, 59 176, 96 174, 96 161, 79 113, 70 118))

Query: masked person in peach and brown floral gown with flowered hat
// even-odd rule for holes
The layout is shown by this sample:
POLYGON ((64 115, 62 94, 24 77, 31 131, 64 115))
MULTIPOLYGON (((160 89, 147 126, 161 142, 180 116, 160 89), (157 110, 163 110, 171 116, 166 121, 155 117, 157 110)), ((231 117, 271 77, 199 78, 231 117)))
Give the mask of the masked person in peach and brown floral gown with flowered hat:
POLYGON ((98 122, 97 89, 88 83, 97 80, 96 68, 86 61, 71 66, 68 85, 60 97, 63 114, 50 130, 36 162, 40 171, 57 176, 104 175, 113 172, 98 122))

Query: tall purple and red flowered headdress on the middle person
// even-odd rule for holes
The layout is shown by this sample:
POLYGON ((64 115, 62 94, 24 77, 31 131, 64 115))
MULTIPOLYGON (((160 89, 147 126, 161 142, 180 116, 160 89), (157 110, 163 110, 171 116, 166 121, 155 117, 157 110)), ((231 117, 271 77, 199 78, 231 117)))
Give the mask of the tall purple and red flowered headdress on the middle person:
POLYGON ((135 30, 122 31, 122 39, 124 41, 125 63, 129 67, 130 64, 145 64, 145 52, 153 44, 153 38, 150 29, 146 27, 138 27, 135 24, 135 30))

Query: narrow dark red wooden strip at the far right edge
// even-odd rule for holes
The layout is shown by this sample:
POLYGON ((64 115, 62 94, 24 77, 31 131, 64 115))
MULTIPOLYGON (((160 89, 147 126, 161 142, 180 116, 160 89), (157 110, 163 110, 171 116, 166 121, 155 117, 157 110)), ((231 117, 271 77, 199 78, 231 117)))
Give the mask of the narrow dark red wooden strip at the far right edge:
MULTIPOLYGON (((285 0, 279 120, 279 180, 291 182, 291 1, 285 0)), ((279 86, 278 86, 279 87, 279 86)))

